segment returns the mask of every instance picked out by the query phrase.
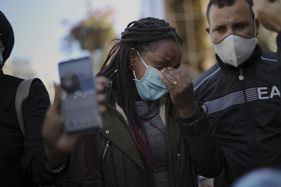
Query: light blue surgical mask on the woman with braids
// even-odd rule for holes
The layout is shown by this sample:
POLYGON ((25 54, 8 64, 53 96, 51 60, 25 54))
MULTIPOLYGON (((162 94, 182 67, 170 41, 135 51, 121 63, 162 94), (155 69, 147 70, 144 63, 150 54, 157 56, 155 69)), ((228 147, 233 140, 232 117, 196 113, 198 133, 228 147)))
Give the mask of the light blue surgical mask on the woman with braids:
MULTIPOLYGON (((139 53, 138 55, 140 56, 139 53)), ((147 66, 141 57, 140 60, 146 67, 145 74, 142 79, 137 80, 135 71, 133 71, 136 78, 133 80, 135 81, 138 93, 143 100, 155 101, 168 93, 168 89, 159 77, 160 71, 155 69, 154 67, 151 67, 150 65, 147 66)))

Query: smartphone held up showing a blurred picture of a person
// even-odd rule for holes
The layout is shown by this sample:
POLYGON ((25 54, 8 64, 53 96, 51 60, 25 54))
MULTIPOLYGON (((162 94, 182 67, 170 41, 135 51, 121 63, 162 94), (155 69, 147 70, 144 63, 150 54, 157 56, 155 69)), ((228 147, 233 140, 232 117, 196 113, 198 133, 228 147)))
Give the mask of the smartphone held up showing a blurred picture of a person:
POLYGON ((89 57, 59 63, 61 114, 66 134, 86 134, 102 126, 89 57))

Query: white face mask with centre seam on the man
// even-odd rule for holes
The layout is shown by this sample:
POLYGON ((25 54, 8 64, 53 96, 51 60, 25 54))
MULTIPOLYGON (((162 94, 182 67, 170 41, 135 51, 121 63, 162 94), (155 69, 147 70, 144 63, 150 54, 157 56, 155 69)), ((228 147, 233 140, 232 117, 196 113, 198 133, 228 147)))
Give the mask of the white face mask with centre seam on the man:
POLYGON ((229 34, 221 41, 214 43, 212 35, 210 35, 212 47, 222 62, 238 67, 251 56, 253 50, 258 44, 255 21, 254 27, 255 35, 253 37, 244 37, 239 34, 229 34))

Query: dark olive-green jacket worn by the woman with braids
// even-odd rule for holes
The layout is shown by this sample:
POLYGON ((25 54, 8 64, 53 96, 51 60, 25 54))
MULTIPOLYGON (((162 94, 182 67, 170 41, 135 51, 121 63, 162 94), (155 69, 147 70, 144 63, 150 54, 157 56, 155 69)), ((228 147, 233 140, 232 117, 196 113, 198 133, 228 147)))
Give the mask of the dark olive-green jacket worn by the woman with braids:
MULTIPOLYGON (((67 186, 149 187, 145 164, 126 115, 115 102, 112 83, 109 80, 105 85, 108 112, 103 127, 95 135, 85 136, 73 151, 67 186)), ((170 186, 194 185, 191 164, 201 176, 214 178, 220 174, 223 150, 204 110, 197 105, 192 116, 180 117, 169 94, 159 102, 166 126, 170 186)))

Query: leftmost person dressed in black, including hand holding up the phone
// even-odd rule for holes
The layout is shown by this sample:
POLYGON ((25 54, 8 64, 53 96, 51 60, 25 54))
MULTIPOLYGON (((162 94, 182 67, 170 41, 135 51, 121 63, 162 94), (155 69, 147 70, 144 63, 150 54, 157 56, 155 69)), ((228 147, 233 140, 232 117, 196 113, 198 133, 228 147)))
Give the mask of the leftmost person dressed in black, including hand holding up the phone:
MULTIPOLYGON (((66 136, 61 125, 52 126, 53 123, 50 123, 43 126, 50 99, 40 79, 33 80, 22 105, 24 136, 15 106, 16 92, 24 79, 5 75, 2 70, 13 45, 13 29, 0 11, 0 186, 37 187, 38 184, 61 183, 69 165, 67 151, 72 149, 71 145, 75 145, 79 137, 66 136)), ((104 84, 102 78, 99 80, 97 86, 104 84)), ((103 92, 102 87, 97 89, 98 93, 103 92)), ((58 86, 55 85, 55 89, 57 96, 58 86)), ((103 103, 104 99, 99 101, 103 103)), ((47 115, 52 115, 52 110, 47 115)), ((60 118, 55 120, 61 121, 60 118)))

